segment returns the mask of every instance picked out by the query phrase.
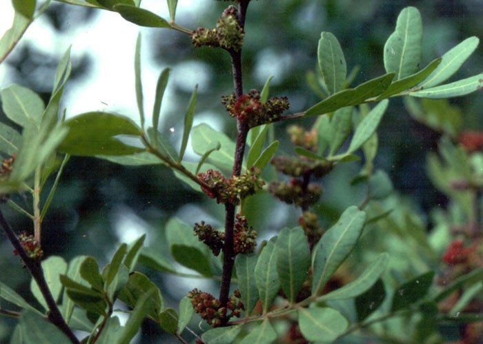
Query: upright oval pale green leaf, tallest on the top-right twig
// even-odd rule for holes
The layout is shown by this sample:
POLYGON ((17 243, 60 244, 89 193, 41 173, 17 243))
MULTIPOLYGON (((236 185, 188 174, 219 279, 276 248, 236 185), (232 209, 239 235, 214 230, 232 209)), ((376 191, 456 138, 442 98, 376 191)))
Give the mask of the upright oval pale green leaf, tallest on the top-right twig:
POLYGON ((422 20, 415 7, 404 8, 397 17, 396 30, 384 45, 384 68, 400 80, 417 72, 421 63, 422 20))

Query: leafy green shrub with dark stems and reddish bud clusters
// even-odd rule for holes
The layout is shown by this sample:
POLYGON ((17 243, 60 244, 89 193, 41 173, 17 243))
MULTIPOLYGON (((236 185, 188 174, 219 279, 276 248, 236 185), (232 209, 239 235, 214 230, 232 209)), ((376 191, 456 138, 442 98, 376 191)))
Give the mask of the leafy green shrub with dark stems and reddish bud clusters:
MULTIPOLYGON (((435 100, 482 88, 483 74, 447 81, 477 48, 476 37, 422 67, 421 15, 416 8, 404 8, 382 52, 385 74, 352 86, 341 45, 334 34, 322 32, 317 72, 308 78, 322 99, 290 113, 283 94, 268 96, 270 80, 259 90, 244 89, 242 49, 249 39, 245 19, 250 0, 227 3, 210 28, 177 23, 176 0, 167 1, 169 20, 141 8, 140 0, 62 2, 117 12, 139 26, 182 32, 197 48, 224 50, 233 65, 234 90, 221 95, 220 105, 236 124, 236 137, 217 132, 210 123, 192 128, 195 88, 180 148, 174 148, 158 131, 169 69, 159 74, 152 122, 147 123, 141 37, 134 57, 138 122, 99 111, 64 119, 59 104, 72 69, 69 49, 59 61, 46 105, 21 85, 1 90, 3 112, 16 125, 0 123, 2 207, 28 216, 32 230, 13 229, 2 212, 0 226, 3 240, 12 243, 32 275, 31 291, 39 303, 28 303, 0 283, 0 298, 8 301, 0 305, 0 316, 18 319, 11 343, 130 343, 145 319, 181 343, 479 343, 483 136, 462 132, 456 120, 460 112, 435 100), (447 212, 432 214, 431 234, 417 212, 393 192, 386 172, 375 168, 377 128, 394 97, 404 97, 413 118, 444 134, 440 154, 428 158, 428 172, 451 201, 447 212), (314 119, 311 128, 297 125, 297 119, 308 117, 314 119), (268 139, 275 135, 273 123, 287 120, 293 155, 277 152, 279 141, 268 139), (139 144, 118 137, 126 135, 139 144), (200 156, 197 162, 184 157, 188 139, 200 156), (224 207, 224 227, 203 219, 171 219, 164 228, 170 252, 146 250, 141 236, 120 245, 102 268, 93 256, 69 262, 43 256, 42 221, 72 155, 168 166, 188 187, 224 207), (362 187, 365 196, 355 195, 355 204, 335 218, 320 212, 321 181, 339 165, 357 160, 364 163, 352 184, 362 187), (46 183, 52 174, 55 180, 46 183), (50 190, 41 198, 46 185, 50 190), (17 193, 31 197, 31 209, 12 199, 17 193), (257 203, 257 197, 268 193, 297 209, 299 226, 279 228, 268 241, 257 243, 257 228, 247 215, 257 207, 265 212, 260 216, 268 216, 270 210, 257 203), (178 310, 167 307, 159 286, 137 267, 148 264, 179 274, 174 263, 220 281, 219 292, 193 285, 178 310), (6 307, 10 304, 20 311, 6 307), (118 311, 115 304, 124 304, 127 311, 118 311), (119 312, 128 314, 122 325, 119 312), (192 318, 202 323, 193 325, 192 318)), ((0 41, 1 61, 50 1, 39 6, 35 0, 12 3, 14 23, 0 41)))

